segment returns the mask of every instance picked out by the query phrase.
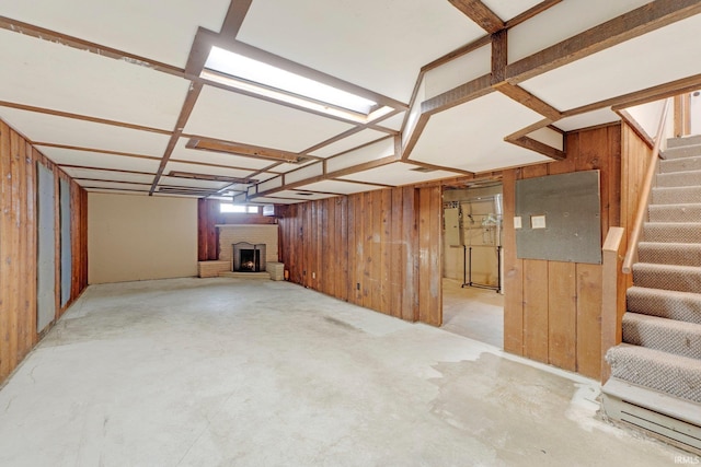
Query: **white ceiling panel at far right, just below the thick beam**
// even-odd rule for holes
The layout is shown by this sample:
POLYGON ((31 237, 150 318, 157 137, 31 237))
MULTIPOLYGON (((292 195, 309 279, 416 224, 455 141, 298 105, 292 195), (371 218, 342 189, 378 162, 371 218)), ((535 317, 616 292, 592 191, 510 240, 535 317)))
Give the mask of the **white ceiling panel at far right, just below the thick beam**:
POLYGON ((701 73, 701 14, 521 83, 561 108, 576 108, 701 73), (576 90, 576 92, 573 92, 576 90))

